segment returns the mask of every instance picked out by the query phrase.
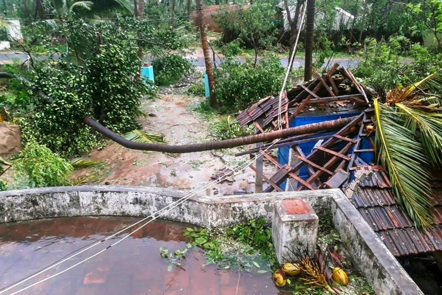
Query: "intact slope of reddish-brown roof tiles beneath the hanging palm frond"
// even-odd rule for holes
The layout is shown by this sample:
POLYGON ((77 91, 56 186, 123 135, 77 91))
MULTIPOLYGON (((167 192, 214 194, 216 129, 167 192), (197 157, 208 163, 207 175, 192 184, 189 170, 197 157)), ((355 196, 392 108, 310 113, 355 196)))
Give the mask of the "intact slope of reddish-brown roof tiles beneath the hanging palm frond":
POLYGON ((431 202, 436 225, 427 232, 416 229, 398 205, 381 167, 357 167, 361 176, 352 200, 364 220, 396 257, 442 250, 442 180, 432 182, 431 202))

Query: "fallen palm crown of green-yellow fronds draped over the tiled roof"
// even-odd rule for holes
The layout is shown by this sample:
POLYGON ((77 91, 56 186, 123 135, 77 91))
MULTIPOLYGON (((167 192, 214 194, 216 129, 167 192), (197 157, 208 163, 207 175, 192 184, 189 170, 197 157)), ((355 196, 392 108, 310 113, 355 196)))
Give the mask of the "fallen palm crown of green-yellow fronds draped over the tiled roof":
POLYGON ((431 226, 429 168, 442 167, 442 75, 389 91, 374 102, 378 160, 391 180, 398 203, 420 229, 431 226), (381 101, 383 100, 383 101, 381 101))

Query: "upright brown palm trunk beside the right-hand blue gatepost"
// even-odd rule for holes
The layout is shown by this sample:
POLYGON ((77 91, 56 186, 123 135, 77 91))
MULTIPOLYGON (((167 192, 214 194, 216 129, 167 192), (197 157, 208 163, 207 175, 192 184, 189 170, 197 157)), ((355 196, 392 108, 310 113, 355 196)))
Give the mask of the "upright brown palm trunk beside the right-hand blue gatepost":
POLYGON ((206 63, 207 78, 209 80, 210 106, 213 108, 216 108, 216 107, 219 107, 219 104, 216 101, 215 96, 213 95, 213 88, 215 86, 215 79, 213 77, 212 63, 210 61, 209 43, 207 42, 206 24, 204 22, 203 1, 202 0, 197 0, 197 17, 198 17, 198 25, 200 26, 201 45, 202 45, 203 53, 204 53, 204 62, 206 63))

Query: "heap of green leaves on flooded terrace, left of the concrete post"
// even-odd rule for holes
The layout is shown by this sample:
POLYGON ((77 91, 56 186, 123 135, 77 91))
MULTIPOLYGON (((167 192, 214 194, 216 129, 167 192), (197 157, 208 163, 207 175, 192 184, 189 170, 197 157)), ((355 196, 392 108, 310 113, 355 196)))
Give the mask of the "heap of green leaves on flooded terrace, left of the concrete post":
POLYGON ((184 236, 205 249, 209 263, 265 273, 277 267, 271 230, 265 224, 259 218, 225 229, 187 228, 184 236))

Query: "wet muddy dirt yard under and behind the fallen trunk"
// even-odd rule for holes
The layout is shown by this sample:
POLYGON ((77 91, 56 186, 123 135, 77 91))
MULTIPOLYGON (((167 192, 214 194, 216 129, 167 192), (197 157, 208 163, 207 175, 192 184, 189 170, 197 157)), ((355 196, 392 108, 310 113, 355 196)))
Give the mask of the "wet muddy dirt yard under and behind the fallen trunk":
MULTIPOLYGON (((142 109, 150 116, 140 120, 143 131, 164 134, 170 144, 198 143, 210 140, 208 123, 197 112, 191 109, 199 100, 188 96, 165 95, 156 101, 142 104, 142 109)), ((191 191, 200 188, 212 181, 210 177, 224 167, 234 168, 249 157, 235 157, 237 149, 228 150, 220 158, 210 151, 180 154, 178 157, 169 157, 163 153, 147 153, 129 150, 118 144, 110 144, 102 150, 93 150, 90 158, 101 159, 105 163, 101 171, 97 168, 87 168, 74 172, 74 176, 85 176, 99 173, 99 184, 134 185, 173 188, 191 191)), ((251 168, 245 168, 241 175, 235 176, 233 182, 225 181, 215 185, 201 194, 224 195, 234 192, 254 192, 255 174, 251 168)))

